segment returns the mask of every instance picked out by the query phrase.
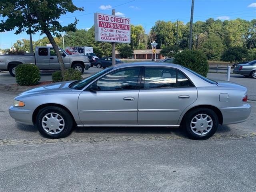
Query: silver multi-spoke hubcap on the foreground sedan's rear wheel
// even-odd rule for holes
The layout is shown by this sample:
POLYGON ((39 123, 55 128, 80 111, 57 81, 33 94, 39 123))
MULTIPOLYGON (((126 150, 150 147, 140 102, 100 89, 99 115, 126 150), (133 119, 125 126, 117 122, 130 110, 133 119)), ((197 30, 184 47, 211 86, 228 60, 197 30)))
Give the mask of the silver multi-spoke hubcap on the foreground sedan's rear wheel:
POLYGON ((194 134, 205 135, 212 129, 212 118, 206 114, 198 114, 190 122, 190 128, 194 134))

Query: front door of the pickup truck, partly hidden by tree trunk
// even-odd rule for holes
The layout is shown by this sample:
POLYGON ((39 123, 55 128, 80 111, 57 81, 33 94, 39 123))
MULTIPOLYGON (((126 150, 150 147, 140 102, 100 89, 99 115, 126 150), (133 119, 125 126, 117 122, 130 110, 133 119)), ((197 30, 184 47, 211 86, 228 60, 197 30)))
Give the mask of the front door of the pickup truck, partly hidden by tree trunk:
MULTIPOLYGON (((60 54, 62 55, 62 60, 64 62, 65 68, 69 67, 69 57, 64 56, 66 55, 65 53, 63 54, 63 51, 59 49, 60 54)), ((60 69, 60 64, 58 62, 57 54, 54 51, 54 48, 50 48, 50 68, 51 69, 60 69)))

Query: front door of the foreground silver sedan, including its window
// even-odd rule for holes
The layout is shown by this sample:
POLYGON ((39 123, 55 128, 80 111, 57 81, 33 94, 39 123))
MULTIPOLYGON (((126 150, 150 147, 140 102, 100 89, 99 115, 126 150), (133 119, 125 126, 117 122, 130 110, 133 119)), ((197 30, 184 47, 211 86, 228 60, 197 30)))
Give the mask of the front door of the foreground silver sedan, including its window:
POLYGON ((83 91, 78 98, 82 124, 138 125, 139 74, 140 67, 116 70, 94 82, 98 91, 83 91))

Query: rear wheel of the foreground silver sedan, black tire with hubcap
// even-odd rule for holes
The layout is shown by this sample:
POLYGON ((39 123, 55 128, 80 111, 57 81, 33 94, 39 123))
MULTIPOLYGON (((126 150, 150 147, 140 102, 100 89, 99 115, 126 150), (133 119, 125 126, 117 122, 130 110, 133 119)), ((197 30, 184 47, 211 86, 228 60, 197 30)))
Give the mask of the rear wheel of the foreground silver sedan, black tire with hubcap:
POLYGON ((205 140, 210 138, 216 132, 218 124, 218 116, 213 110, 208 108, 191 110, 185 115, 183 122, 183 126, 188 134, 188 137, 194 140, 205 140), (196 121, 198 124, 195 123, 196 121), (197 126, 200 130, 196 128, 197 126))

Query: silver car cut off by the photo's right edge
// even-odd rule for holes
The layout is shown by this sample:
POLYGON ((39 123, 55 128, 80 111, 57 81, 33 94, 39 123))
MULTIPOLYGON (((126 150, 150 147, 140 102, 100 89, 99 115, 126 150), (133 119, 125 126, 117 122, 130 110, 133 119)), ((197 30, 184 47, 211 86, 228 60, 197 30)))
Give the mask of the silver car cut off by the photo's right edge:
POLYGON ((233 73, 256 79, 256 60, 236 65, 233 73))

